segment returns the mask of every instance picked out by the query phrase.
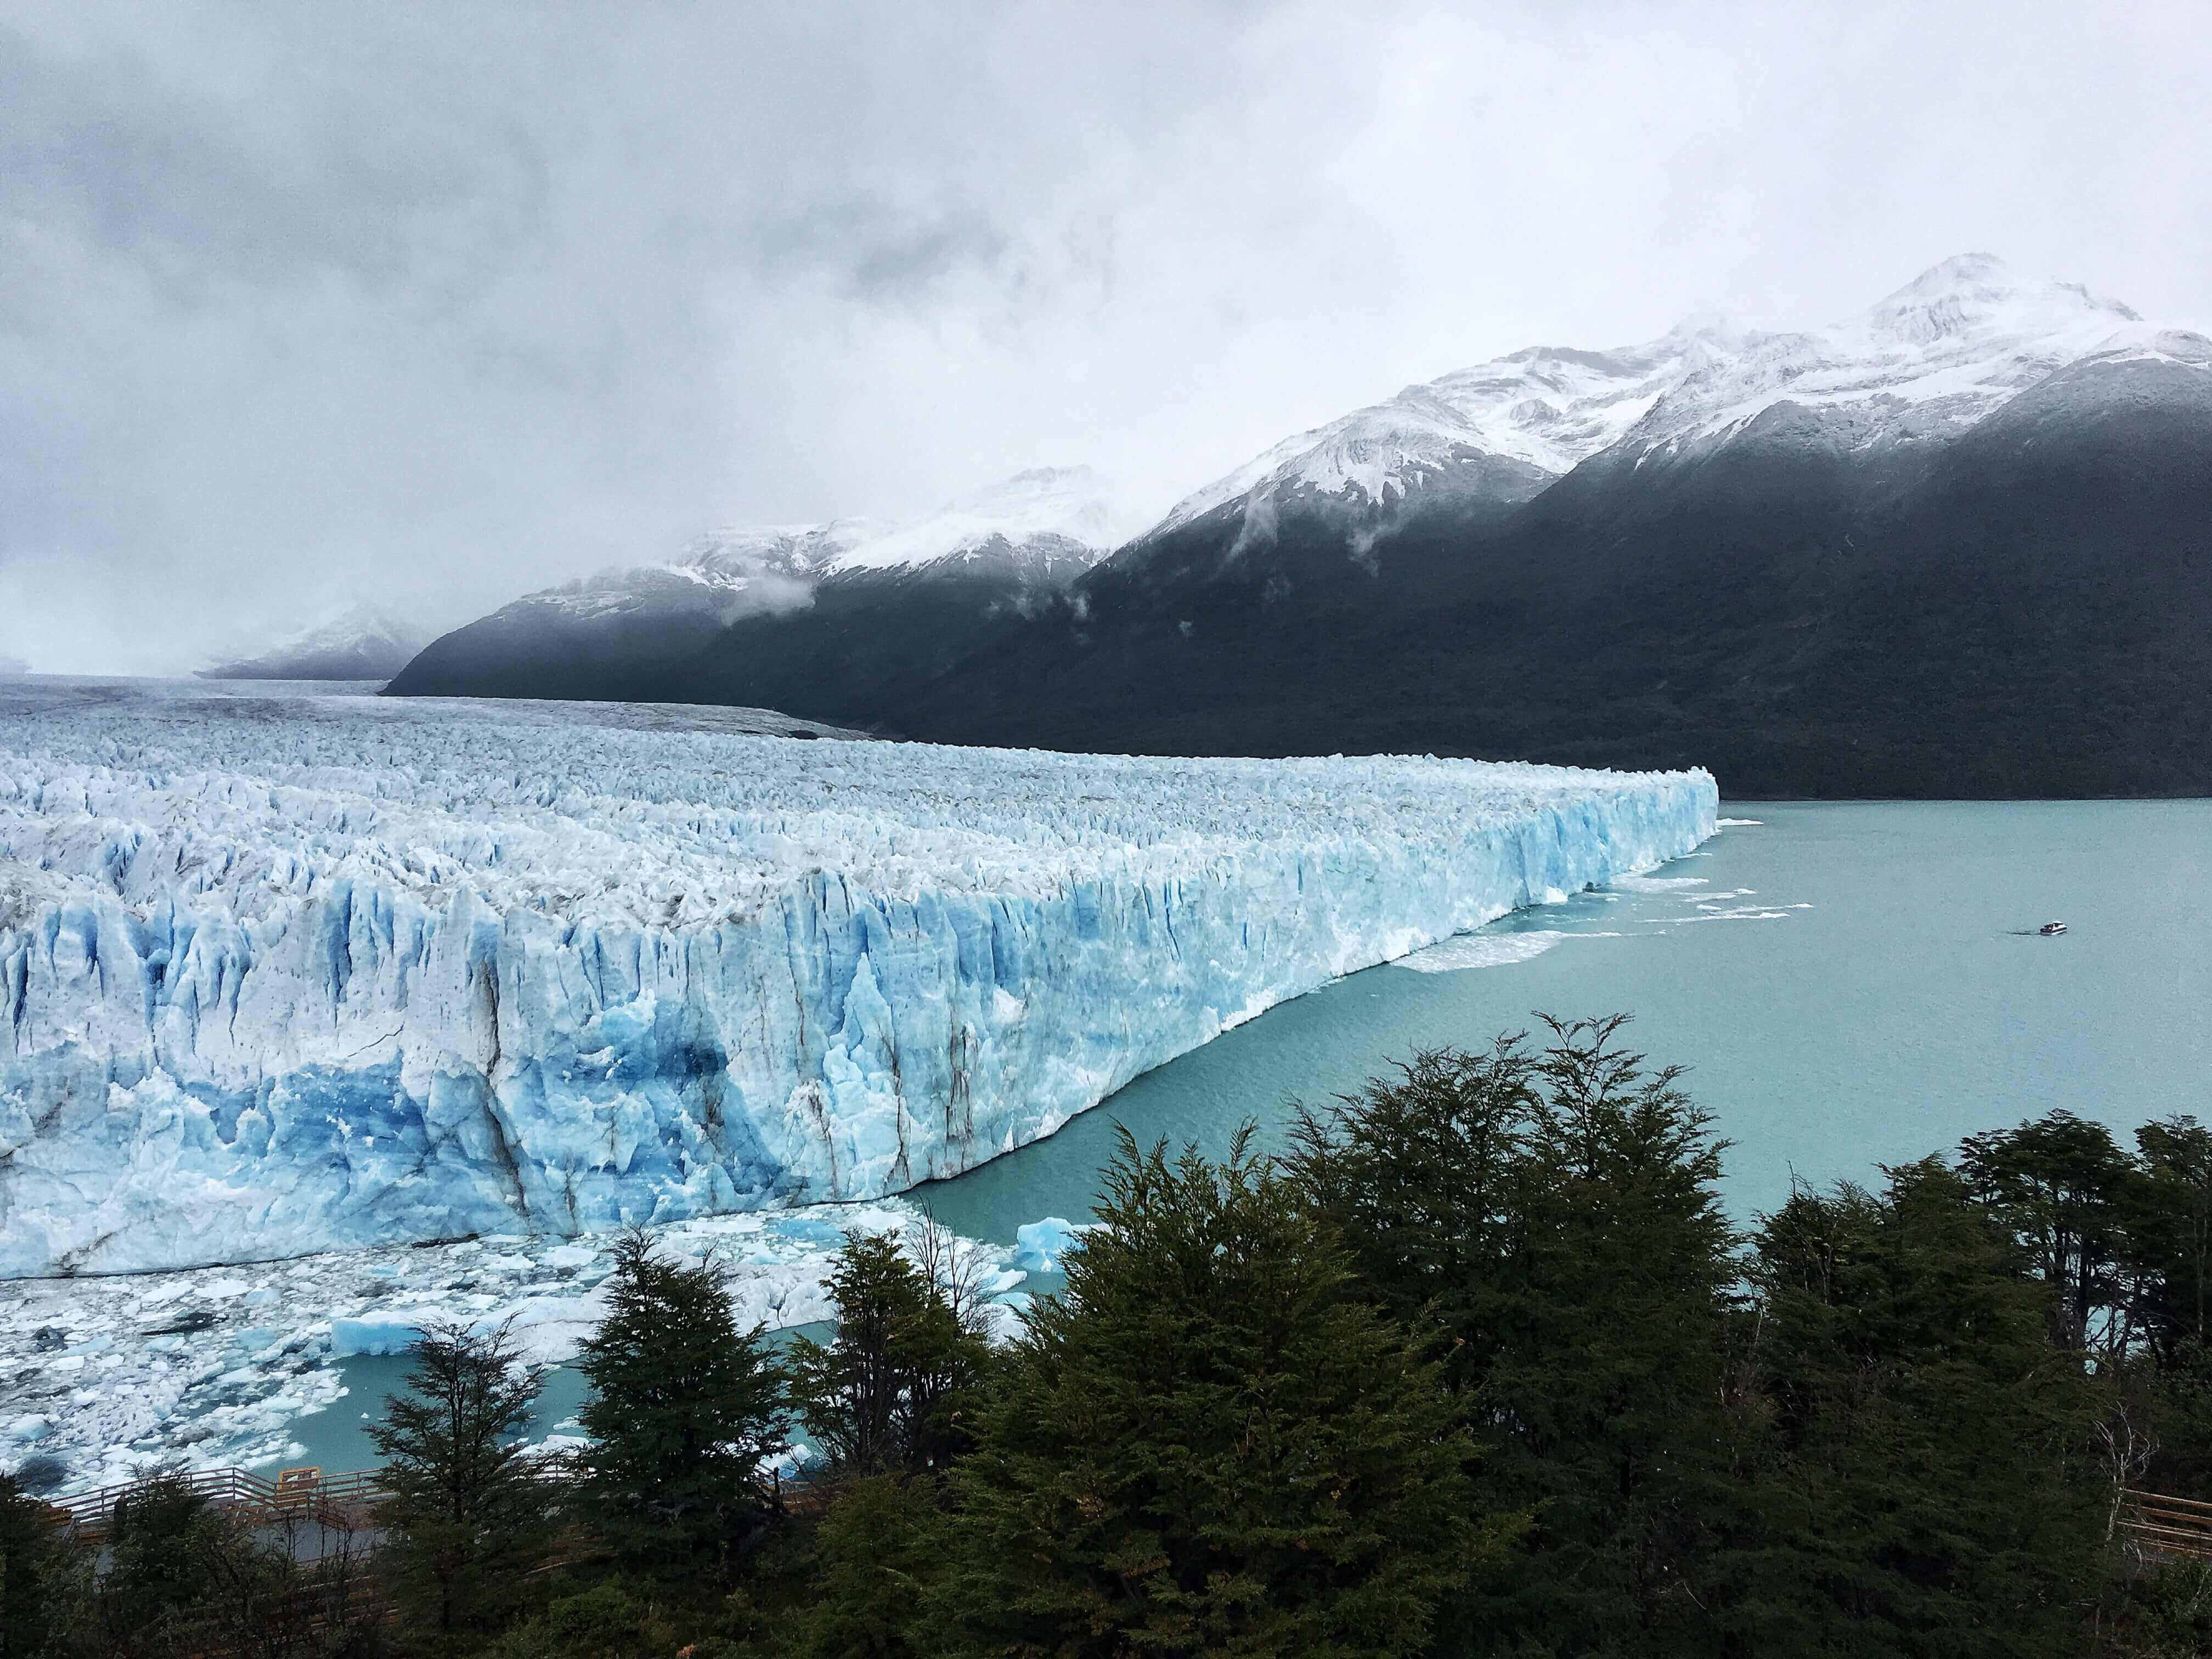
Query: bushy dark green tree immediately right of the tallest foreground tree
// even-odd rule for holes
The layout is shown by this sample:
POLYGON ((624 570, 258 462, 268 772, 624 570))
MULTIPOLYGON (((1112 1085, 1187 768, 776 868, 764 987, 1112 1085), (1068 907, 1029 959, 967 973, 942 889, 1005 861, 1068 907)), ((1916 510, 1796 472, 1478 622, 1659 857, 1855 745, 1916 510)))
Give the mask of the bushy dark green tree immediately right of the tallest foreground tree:
POLYGON ((1736 1568, 1767 1650, 2064 1655, 2104 1568, 2101 1398, 2057 1287, 1940 1157, 1798 1190, 1759 1232, 1778 1453, 1736 1568))

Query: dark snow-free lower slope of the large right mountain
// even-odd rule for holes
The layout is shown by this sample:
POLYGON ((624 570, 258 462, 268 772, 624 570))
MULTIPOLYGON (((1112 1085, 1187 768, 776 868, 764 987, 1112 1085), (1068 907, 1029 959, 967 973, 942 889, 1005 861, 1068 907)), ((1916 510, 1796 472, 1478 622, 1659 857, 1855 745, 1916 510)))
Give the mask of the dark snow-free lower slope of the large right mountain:
POLYGON ((1785 403, 1699 462, 1416 507, 1360 557, 1325 507, 1265 557, 1201 520, 978 637, 896 723, 1705 763, 1732 794, 2212 792, 2212 376, 2084 365, 1949 445, 1847 438, 1785 403))

